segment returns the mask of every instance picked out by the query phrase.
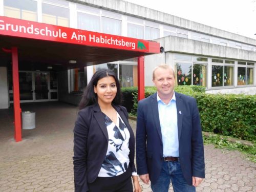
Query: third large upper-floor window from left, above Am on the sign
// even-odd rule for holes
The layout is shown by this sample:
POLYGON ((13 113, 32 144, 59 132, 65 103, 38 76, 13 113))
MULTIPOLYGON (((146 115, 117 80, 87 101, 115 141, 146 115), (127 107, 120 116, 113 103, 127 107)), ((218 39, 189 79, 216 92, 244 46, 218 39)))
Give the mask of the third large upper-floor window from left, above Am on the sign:
POLYGON ((78 29, 100 32, 100 16, 77 12, 78 29))

